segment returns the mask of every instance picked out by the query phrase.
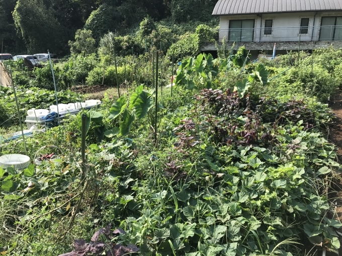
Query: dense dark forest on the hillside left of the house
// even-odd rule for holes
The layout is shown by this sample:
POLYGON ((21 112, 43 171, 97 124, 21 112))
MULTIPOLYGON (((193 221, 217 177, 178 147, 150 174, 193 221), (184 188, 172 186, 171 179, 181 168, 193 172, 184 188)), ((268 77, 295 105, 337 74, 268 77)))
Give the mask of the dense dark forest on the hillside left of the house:
MULTIPOLYGON (((135 40, 139 25, 145 18, 153 24, 162 21, 164 27, 189 21, 210 22, 216 2, 216 0, 0 0, 0 41, 3 42, 3 52, 12 55, 46 52, 49 49, 59 56, 65 56, 70 54, 71 41, 75 40, 75 35, 77 38, 77 35, 84 37, 84 34, 91 33, 90 37, 95 40, 92 46, 95 48, 99 46, 101 38, 110 32, 115 37, 128 35, 133 38, 126 38, 126 41, 135 40)), ((144 35, 140 33, 140 36, 147 37, 153 30, 156 31, 153 26, 147 28, 143 32, 144 35)), ((158 36, 165 37, 164 34, 159 33, 158 36)))

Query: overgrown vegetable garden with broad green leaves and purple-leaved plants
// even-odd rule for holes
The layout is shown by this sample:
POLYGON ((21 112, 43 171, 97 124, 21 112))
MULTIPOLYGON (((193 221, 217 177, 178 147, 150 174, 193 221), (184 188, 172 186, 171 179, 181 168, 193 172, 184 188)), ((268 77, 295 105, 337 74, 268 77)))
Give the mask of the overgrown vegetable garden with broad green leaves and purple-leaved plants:
MULTIPOLYGON (((216 59, 169 49, 54 65, 59 103, 86 98, 79 83, 114 89, 26 148, 2 143, 2 155, 31 160, 60 149, 45 148, 57 157, 41 165, 0 168, 2 255, 338 253, 341 168, 326 103, 341 85, 342 51, 251 62, 243 47, 216 59)), ((7 67, 21 115, 55 103, 49 65, 7 67)), ((18 113, 13 90, 0 95, 6 138, 18 113)))

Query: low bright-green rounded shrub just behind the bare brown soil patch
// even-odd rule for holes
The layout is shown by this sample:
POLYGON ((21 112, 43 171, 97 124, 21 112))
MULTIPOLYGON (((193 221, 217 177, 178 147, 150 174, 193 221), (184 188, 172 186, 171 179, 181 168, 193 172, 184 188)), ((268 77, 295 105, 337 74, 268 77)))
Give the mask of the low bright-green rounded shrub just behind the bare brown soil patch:
MULTIPOLYGON (((125 68, 117 67, 118 71, 118 82, 119 84, 125 81, 125 68)), ((103 76, 105 75, 104 84, 117 86, 115 66, 109 67, 96 67, 94 68, 87 77, 87 84, 96 85, 102 84, 103 76)), ((132 75, 132 70, 130 67, 126 67, 127 79, 132 75)))

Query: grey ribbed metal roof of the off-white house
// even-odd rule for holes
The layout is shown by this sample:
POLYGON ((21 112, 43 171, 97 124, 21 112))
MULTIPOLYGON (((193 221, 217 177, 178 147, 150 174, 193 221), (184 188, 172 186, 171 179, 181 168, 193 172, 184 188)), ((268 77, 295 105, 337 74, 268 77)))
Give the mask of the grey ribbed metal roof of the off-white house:
POLYGON ((219 0, 213 15, 342 11, 341 0, 219 0))

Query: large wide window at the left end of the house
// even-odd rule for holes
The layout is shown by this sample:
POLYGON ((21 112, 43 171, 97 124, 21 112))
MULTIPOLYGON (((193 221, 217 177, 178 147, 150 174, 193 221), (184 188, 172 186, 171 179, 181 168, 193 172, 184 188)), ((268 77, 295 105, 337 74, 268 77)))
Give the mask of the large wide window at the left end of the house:
POLYGON ((252 42, 254 34, 254 20, 229 21, 229 41, 252 42))

